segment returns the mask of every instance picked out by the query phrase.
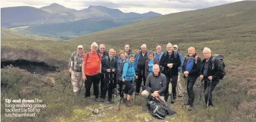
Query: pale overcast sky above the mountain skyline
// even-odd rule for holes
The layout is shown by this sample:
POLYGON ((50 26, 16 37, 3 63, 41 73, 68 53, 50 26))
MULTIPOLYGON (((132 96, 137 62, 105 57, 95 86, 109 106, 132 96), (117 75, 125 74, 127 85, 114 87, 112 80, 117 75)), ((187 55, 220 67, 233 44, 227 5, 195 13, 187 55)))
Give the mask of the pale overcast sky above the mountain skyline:
MULTIPOLYGON (((221 4, 238 2, 241 0, 205 0, 205 1, 174 1, 174 0, 54 0, 67 8, 77 10, 88 8, 89 6, 105 6, 117 8, 122 12, 146 13, 149 11, 169 14, 194 9, 208 8, 221 4)), ((32 6, 40 8, 53 3, 53 0, 1 0, 1 8, 14 6, 32 6)))

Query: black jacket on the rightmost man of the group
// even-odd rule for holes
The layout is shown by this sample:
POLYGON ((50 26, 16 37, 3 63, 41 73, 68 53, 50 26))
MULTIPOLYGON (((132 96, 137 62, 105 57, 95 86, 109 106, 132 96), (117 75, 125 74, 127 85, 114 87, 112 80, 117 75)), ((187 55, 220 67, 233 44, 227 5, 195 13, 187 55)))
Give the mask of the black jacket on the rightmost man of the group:
MULTIPOLYGON (((212 60, 211 60, 212 58, 213 58, 213 56, 211 56, 208 60, 208 62, 210 62, 210 64, 208 66, 208 72, 207 72, 206 77, 212 76, 213 80, 219 81, 219 77, 220 77, 221 73, 223 72, 223 67, 221 67, 220 61, 218 59, 214 59, 214 65, 213 65, 212 60)), ((200 75, 203 75, 205 62, 206 62, 206 59, 204 59, 201 64, 200 75)))

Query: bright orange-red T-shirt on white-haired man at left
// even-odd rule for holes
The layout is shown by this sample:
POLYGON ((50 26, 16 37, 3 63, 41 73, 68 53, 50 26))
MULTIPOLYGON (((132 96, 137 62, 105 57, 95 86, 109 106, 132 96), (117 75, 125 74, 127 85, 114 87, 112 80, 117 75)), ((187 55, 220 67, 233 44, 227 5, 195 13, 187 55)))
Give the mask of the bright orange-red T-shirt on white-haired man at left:
POLYGON ((86 75, 95 75, 100 73, 100 61, 101 57, 99 58, 97 53, 89 52, 89 58, 87 60, 87 54, 83 57, 83 62, 85 62, 85 74, 86 75))

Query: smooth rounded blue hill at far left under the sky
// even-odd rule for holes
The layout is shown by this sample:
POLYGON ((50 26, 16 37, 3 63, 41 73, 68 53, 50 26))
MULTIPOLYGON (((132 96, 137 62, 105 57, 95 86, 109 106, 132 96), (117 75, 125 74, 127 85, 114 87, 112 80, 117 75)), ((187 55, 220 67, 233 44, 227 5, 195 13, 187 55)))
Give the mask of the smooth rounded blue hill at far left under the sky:
POLYGON ((1 8, 1 27, 65 22, 63 18, 65 16, 29 6, 1 8))

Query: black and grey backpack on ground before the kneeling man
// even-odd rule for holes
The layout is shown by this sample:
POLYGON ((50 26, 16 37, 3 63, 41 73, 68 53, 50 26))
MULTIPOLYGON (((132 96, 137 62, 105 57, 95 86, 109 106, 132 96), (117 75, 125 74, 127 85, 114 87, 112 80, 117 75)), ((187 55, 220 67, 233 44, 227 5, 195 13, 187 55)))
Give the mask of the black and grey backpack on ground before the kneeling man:
POLYGON ((159 119, 165 119, 168 115, 166 108, 163 104, 157 102, 157 98, 150 97, 147 99, 147 111, 154 117, 159 119))

